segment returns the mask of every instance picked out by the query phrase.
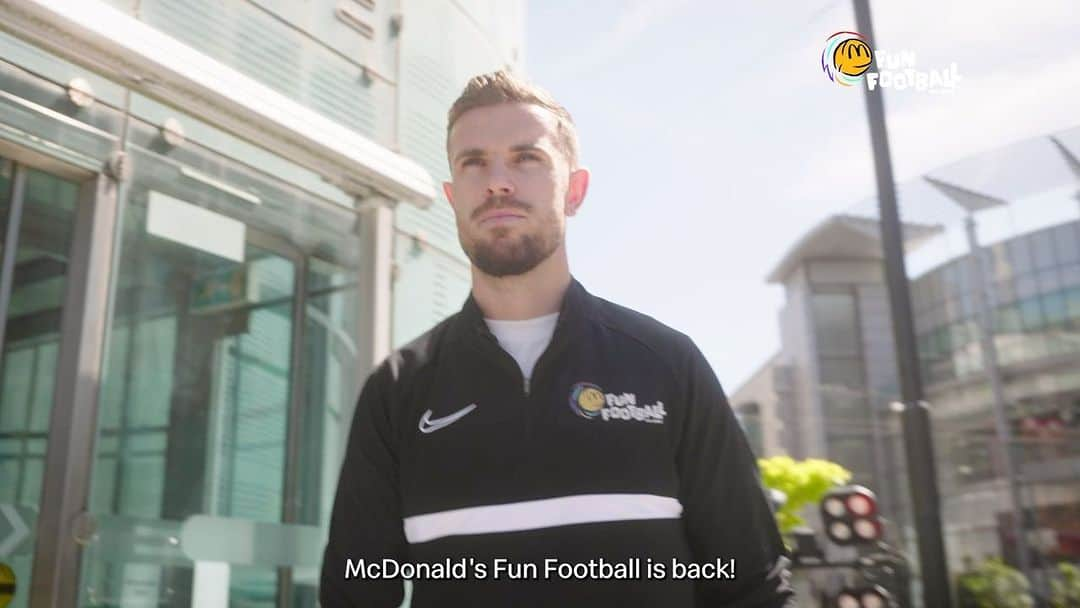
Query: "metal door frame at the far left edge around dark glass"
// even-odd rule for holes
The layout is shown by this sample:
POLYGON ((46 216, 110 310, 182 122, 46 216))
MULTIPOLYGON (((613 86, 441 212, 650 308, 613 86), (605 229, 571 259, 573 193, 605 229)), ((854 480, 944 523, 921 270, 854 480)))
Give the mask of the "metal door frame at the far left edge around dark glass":
POLYGON ((73 606, 78 596, 73 581, 79 577, 79 548, 73 542, 72 528, 90 489, 117 221, 117 183, 104 174, 73 167, 8 143, 0 143, 0 154, 15 163, 10 216, 13 221, 8 226, 0 270, 0 323, 6 323, 21 212, 26 202, 27 170, 41 170, 79 185, 28 585, 29 606, 73 606))

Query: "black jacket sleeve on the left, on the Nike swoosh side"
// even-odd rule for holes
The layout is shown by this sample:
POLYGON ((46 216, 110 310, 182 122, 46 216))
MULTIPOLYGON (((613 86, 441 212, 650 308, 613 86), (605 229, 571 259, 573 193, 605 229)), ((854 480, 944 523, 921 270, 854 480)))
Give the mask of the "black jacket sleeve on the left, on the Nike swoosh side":
POLYGON ((323 554, 319 590, 323 608, 391 608, 402 603, 402 579, 355 576, 361 559, 380 566, 384 558, 406 559, 390 418, 392 381, 388 360, 368 377, 356 402, 323 554))

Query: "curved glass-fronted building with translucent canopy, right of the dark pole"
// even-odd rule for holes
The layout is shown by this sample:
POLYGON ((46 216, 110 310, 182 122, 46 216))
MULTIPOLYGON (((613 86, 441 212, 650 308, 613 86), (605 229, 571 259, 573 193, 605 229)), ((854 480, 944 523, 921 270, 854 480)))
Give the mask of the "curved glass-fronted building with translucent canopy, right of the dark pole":
MULTIPOLYGON (((951 255, 912 282, 953 567, 995 555, 1018 567, 1013 485, 1028 537, 1028 575, 1042 593, 1055 563, 1080 559, 1080 221, 1075 199, 1062 195, 1074 190, 976 214, 985 243, 982 280, 954 238, 951 255), (993 317, 986 329, 1010 444, 995 425, 976 314, 981 293, 993 317)), ((946 224, 946 231, 960 233, 958 221, 946 224)))

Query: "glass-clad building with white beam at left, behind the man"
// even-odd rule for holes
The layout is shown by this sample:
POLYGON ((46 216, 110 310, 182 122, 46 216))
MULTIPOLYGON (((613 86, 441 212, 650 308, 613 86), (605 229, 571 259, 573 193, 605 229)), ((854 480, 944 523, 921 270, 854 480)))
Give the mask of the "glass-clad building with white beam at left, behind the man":
POLYGON ((518 0, 0 0, 12 606, 314 606, 360 383, 457 310, 437 184, 518 0))

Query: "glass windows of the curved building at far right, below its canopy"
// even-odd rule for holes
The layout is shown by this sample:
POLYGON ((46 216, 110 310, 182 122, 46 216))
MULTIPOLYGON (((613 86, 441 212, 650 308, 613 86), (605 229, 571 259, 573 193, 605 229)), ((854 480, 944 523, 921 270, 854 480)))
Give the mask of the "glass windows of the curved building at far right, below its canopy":
MULTIPOLYGON (((1080 360, 1080 222, 1070 221, 1022 234, 987 247, 987 300, 994 305, 994 344, 1008 373, 1041 375, 1041 390, 1007 381, 1007 414, 1022 463, 1080 456, 1080 387, 1069 370, 1080 360), (1038 373, 1038 374, 1037 374, 1038 373), (1047 429, 1050 431, 1047 431, 1047 429), (1048 445, 1049 442, 1049 445, 1048 445)), ((928 383, 947 390, 982 382, 986 370, 974 314, 975 282, 971 260, 961 257, 920 276, 913 284, 919 353, 928 383), (941 314, 939 311, 948 311, 941 314)), ((1008 374, 1007 374, 1008 375, 1008 374)), ((985 389, 984 389, 985 391, 985 389)), ((971 484, 1002 474, 1000 449, 983 393, 970 414, 945 413, 942 423, 954 433, 950 478, 971 484)))

